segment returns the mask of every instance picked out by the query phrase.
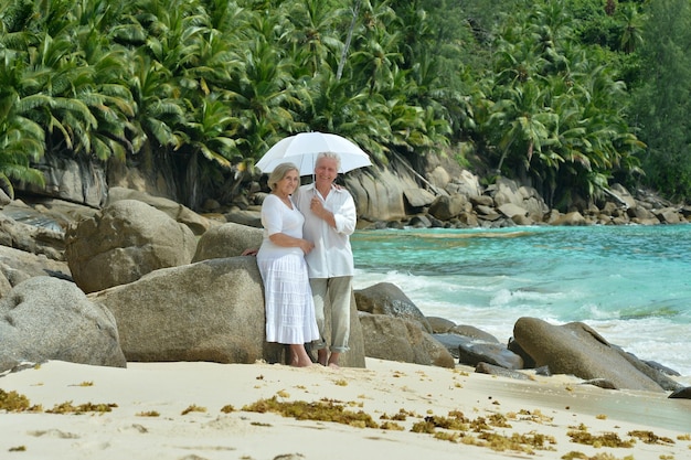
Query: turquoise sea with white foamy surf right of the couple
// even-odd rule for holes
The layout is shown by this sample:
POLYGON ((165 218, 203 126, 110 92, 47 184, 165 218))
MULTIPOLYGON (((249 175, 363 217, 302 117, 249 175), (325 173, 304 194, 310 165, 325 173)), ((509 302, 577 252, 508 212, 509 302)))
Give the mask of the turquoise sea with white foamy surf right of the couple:
POLYGON ((691 384, 691 225, 359 231, 354 288, 502 342, 521 317, 582 321, 691 384))

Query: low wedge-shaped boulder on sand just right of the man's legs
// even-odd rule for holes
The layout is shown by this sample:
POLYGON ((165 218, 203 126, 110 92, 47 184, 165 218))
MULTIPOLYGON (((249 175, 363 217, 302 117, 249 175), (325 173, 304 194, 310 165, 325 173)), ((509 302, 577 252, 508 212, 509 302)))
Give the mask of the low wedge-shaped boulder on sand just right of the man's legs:
POLYGON ((419 324, 403 318, 360 311, 364 351, 370 357, 455 367, 454 356, 419 324))

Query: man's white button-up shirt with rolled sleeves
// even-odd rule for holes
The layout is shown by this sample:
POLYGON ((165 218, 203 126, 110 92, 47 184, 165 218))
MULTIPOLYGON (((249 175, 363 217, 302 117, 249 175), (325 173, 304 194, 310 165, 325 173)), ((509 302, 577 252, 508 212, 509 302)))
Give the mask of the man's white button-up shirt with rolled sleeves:
POLYGON ((315 189, 315 184, 302 185, 296 190, 293 199, 305 216, 302 237, 315 244, 315 248, 305 256, 310 278, 332 278, 353 276, 353 252, 350 235, 355 231, 358 213, 355 202, 344 189, 331 186, 327 197, 315 189), (319 196, 323 207, 333 214, 336 228, 319 218, 309 208, 312 196, 319 196))

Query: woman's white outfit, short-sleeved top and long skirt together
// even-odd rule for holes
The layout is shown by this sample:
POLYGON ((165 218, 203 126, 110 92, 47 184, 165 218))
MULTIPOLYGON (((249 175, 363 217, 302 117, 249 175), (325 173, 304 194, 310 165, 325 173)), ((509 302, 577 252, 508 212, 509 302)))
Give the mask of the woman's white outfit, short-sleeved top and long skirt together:
POLYGON ((257 265, 264 280, 267 342, 301 344, 319 339, 302 249, 278 246, 269 239, 275 233, 301 238, 304 223, 295 204, 290 208, 274 194, 264 200, 264 238, 257 265))

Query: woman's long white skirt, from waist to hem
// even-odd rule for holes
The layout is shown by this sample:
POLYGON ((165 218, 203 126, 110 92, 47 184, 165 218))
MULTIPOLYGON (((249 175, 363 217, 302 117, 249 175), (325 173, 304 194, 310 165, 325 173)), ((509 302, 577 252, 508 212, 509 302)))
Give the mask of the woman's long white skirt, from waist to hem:
POLYGON ((319 339, 305 257, 257 257, 257 264, 264 280, 266 341, 301 344, 319 339))

